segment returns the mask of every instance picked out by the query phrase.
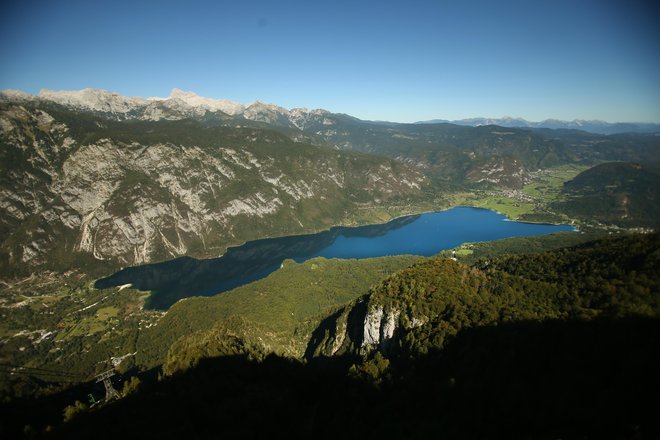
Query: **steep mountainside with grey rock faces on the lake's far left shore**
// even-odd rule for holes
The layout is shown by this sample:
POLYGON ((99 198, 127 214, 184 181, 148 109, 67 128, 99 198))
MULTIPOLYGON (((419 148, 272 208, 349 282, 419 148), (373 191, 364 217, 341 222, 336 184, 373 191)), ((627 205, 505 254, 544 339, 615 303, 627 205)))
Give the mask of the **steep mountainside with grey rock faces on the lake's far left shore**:
POLYGON ((356 203, 414 197, 427 184, 396 162, 275 132, 80 115, 0 106, 9 266, 218 255, 247 239, 329 227, 356 203))

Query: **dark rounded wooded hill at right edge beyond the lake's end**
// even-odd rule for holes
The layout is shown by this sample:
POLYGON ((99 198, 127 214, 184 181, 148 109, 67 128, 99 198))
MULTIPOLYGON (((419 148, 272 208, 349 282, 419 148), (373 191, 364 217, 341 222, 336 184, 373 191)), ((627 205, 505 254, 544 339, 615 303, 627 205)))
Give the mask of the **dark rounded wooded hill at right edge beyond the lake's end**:
POLYGON ((597 165, 566 182, 556 207, 579 219, 660 228, 660 170, 637 163, 597 165))

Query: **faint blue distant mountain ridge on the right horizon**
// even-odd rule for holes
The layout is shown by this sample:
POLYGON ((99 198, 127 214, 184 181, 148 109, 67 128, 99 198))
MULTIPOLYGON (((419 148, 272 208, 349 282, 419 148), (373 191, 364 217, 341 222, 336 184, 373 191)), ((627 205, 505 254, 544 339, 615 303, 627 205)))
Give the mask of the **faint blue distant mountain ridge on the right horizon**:
POLYGON ((545 119, 539 122, 531 122, 523 118, 512 118, 509 116, 504 116, 502 118, 468 118, 454 121, 431 119, 428 121, 416 122, 416 124, 442 123, 467 125, 470 127, 479 127, 482 125, 499 125, 500 127, 511 128, 552 128, 555 130, 582 130, 596 134, 660 132, 660 124, 647 122, 605 122, 599 120, 589 121, 584 119, 573 119, 572 121, 545 119))

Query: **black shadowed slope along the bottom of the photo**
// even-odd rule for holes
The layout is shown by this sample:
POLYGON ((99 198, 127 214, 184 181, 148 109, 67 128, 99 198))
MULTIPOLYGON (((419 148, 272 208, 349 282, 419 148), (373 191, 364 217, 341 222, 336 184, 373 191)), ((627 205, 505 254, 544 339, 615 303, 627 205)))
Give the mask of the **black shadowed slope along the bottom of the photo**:
POLYGON ((210 359, 46 438, 657 438, 659 331, 644 319, 475 328, 379 384, 276 357, 210 359))

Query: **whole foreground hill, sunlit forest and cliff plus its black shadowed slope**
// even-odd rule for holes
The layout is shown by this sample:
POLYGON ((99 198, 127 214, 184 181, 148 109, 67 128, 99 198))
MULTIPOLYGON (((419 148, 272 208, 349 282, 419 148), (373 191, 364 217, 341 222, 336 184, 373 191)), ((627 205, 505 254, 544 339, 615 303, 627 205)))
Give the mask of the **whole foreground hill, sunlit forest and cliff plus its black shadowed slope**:
POLYGON ((306 363, 216 327, 50 437, 657 438, 658 268, 658 234, 429 259, 330 314, 306 363))

